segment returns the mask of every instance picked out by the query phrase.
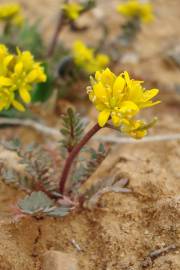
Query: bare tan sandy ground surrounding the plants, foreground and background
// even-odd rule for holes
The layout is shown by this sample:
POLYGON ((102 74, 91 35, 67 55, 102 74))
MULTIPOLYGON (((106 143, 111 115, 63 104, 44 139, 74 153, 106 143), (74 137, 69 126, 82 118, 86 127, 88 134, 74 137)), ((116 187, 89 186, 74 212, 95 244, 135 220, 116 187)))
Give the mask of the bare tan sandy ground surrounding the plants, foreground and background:
MULTIPOLYGON (((19 2, 28 10, 29 17, 43 16, 42 29, 48 41, 59 1, 19 2)), ((140 55, 139 63, 128 67, 161 87, 163 102, 149 112, 149 117, 159 117, 153 133, 174 134, 180 132, 180 98, 164 89, 173 90, 179 83, 179 70, 165 65, 162 59, 165 49, 178 42, 180 36, 180 2, 158 0, 154 4, 157 18, 152 25, 143 27, 135 47, 140 55)), ((120 19, 112 16, 115 1, 101 0, 99 5, 103 9, 97 8, 93 16, 104 16, 116 31, 120 19)), ((92 29, 80 38, 93 43, 97 36, 94 20, 87 21, 92 29)), ((69 38, 69 32, 64 32, 63 38, 75 39, 73 35, 69 38)), ((23 134, 22 130, 17 132, 23 134)), ((31 136, 39 140, 32 131, 31 136)), ((40 270, 45 251, 60 250, 73 253, 83 270, 179 270, 180 141, 115 145, 84 189, 114 174, 129 179, 131 193, 106 194, 98 208, 60 219, 27 217, 12 221, 11 206, 22 194, 1 183, 0 269, 40 270), (81 252, 72 245, 72 239, 80 245, 81 252), (176 245, 174 251, 154 260, 147 259, 151 251, 171 244, 176 245)))

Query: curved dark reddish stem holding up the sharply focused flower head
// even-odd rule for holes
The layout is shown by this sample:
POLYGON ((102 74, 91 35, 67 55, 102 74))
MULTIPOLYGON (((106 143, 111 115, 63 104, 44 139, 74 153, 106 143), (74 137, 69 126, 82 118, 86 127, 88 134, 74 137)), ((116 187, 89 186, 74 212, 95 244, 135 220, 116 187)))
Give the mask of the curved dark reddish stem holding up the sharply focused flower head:
POLYGON ((88 133, 82 138, 82 140, 69 153, 69 156, 66 159, 65 166, 64 166, 64 169, 60 178, 60 182, 59 182, 59 191, 61 194, 64 193, 66 181, 67 181, 67 178, 68 178, 68 175, 69 175, 69 172, 70 172, 70 169, 71 169, 71 166, 75 157, 79 154, 80 150, 89 141, 89 139, 100 129, 101 127, 98 124, 94 125, 88 131, 88 133))

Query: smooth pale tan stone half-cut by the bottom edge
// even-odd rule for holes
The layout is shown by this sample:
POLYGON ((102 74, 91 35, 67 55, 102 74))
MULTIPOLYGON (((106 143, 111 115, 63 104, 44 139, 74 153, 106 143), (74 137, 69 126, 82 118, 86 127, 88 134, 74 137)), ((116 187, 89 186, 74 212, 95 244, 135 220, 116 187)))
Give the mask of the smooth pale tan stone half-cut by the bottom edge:
POLYGON ((78 270, 77 259, 61 251, 47 251, 42 256, 42 270, 78 270))

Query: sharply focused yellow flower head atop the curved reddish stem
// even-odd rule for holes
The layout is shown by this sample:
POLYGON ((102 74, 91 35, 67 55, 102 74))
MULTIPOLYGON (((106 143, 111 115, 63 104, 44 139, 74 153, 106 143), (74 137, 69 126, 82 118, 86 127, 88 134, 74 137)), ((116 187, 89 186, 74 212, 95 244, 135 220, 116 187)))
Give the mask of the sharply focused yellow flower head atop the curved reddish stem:
POLYGON ((145 90, 142 81, 129 78, 127 72, 116 76, 108 68, 97 71, 95 78, 91 78, 92 86, 87 88, 89 99, 99 111, 98 123, 105 126, 108 120, 112 120, 115 127, 134 138, 146 135, 147 125, 142 120, 136 120, 135 116, 143 108, 151 107, 159 103, 151 99, 159 90, 145 90))

